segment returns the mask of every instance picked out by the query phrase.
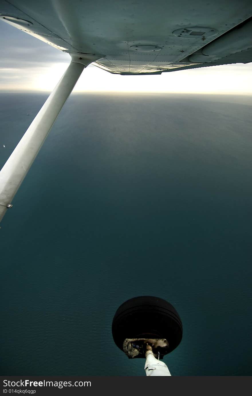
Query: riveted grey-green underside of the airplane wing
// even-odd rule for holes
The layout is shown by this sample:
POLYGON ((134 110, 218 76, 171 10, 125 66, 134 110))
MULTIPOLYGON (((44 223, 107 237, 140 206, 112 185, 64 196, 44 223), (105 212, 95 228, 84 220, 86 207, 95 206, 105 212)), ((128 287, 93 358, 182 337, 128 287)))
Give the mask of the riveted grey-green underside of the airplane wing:
POLYGON ((0 0, 0 18, 115 74, 252 62, 251 0, 0 0))

